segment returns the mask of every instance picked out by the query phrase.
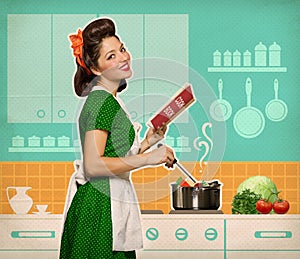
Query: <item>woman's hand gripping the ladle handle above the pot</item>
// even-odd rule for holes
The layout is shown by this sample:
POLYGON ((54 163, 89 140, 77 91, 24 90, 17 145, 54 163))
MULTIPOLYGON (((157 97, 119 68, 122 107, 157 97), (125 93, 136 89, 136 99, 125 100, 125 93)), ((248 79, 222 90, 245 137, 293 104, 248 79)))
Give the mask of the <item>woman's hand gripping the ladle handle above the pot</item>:
POLYGON ((170 168, 174 164, 174 152, 168 146, 161 146, 149 152, 147 164, 159 165, 165 163, 165 166, 170 168))

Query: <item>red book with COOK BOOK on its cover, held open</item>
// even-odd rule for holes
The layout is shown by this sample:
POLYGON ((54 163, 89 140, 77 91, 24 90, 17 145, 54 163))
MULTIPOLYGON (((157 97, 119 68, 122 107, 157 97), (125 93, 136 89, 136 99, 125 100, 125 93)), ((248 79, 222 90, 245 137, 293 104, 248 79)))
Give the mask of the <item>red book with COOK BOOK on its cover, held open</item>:
POLYGON ((181 112, 188 108, 195 101, 191 84, 186 84, 163 109, 154 116, 150 122, 157 129, 163 122, 170 123, 181 112))

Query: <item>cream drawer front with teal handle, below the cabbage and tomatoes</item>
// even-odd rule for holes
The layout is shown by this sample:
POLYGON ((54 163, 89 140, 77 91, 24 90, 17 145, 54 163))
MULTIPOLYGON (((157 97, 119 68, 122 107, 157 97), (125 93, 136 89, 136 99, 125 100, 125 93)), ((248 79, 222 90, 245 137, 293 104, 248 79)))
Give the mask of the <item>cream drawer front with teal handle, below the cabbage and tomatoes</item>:
POLYGON ((299 257, 300 246, 296 241, 300 237, 299 217, 287 220, 282 215, 268 216, 227 220, 226 250, 230 258, 238 258, 245 252, 250 252, 256 258, 282 258, 284 253, 288 258, 299 257), (272 252, 276 250, 278 253, 272 252))

